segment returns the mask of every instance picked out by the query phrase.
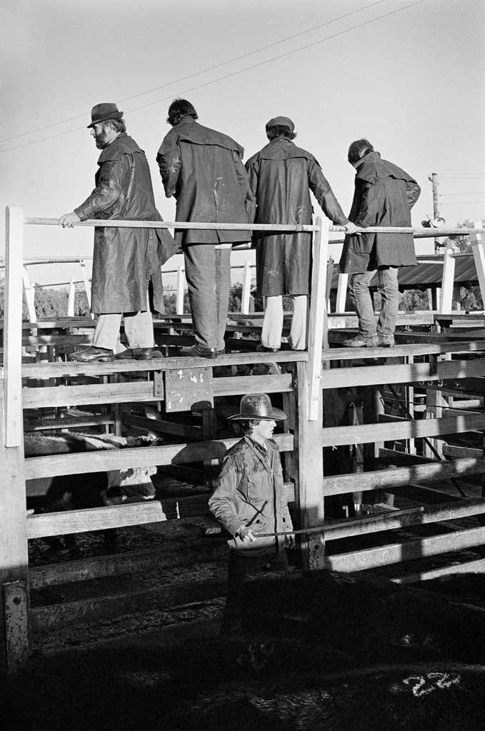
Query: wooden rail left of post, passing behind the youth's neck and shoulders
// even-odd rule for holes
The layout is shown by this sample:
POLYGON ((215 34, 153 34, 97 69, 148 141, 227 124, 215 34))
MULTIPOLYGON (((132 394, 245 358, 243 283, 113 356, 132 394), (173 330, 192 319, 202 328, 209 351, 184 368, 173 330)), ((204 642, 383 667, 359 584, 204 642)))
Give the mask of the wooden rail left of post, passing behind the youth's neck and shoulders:
MULTIPOLYGON (((282 452, 293 450, 293 434, 275 434, 273 438, 282 452)), ((81 452, 72 455, 29 457, 25 461, 25 479, 34 480, 37 477, 55 477, 58 474, 106 472, 129 467, 221 459, 226 450, 236 442, 238 439, 218 439, 214 442, 197 444, 169 444, 162 447, 133 447, 123 450, 81 452)))

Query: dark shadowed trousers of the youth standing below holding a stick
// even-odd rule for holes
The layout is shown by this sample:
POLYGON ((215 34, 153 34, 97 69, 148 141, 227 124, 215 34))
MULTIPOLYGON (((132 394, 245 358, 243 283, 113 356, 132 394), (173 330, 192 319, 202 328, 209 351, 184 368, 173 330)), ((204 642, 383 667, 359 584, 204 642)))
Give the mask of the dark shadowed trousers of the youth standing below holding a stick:
POLYGON ((222 617, 222 632, 241 632, 241 602, 244 592, 244 580, 248 576, 257 576, 268 571, 286 571, 288 559, 284 548, 279 553, 266 553, 263 556, 238 556, 230 551, 229 588, 225 600, 222 617))

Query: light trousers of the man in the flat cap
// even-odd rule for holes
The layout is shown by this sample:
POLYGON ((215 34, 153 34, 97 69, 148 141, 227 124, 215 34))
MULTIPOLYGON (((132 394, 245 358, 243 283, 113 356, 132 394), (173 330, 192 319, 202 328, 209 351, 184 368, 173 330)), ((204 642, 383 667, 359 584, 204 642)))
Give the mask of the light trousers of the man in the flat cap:
MULTIPOLYGON (((293 317, 290 329, 290 347, 295 350, 307 349, 308 332, 308 295, 290 295, 293 301, 293 317)), ((266 297, 264 300, 263 329, 261 344, 265 348, 279 348, 283 330, 283 298, 266 297)))

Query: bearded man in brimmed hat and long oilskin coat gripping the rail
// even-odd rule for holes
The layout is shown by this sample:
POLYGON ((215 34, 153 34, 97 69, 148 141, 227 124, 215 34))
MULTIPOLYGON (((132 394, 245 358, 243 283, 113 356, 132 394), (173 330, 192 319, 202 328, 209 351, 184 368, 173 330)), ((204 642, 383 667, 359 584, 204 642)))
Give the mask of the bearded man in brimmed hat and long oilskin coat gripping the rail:
MULTIPOLYGON (((127 135, 123 112, 115 104, 98 104, 91 111, 91 135, 101 154, 94 191, 59 225, 72 227, 86 219, 162 221, 157 208, 145 153, 127 135)), ((82 363, 110 361, 119 350, 124 317, 128 349, 116 357, 149 360, 154 331, 148 305, 153 288, 154 309, 163 311, 160 267, 176 252, 165 229, 96 227, 91 286, 91 312, 99 315, 93 344, 72 353, 82 363)), ((157 353, 157 355, 159 355, 157 353)))

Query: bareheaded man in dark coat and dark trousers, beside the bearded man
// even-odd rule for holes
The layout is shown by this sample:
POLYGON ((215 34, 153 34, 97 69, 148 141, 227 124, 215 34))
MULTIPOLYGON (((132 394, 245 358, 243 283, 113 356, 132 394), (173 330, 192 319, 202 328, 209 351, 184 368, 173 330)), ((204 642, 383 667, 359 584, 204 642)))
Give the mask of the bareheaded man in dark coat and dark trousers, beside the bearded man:
MULTIPOLYGON (((177 201, 177 221, 243 224, 252 220, 244 153, 227 135, 196 121, 186 99, 168 110, 172 129, 157 155, 165 195, 177 201)), ((215 357, 224 352, 230 290, 230 247, 248 241, 249 231, 186 229, 176 231, 182 246, 195 344, 182 355, 215 357)))

